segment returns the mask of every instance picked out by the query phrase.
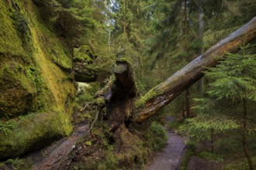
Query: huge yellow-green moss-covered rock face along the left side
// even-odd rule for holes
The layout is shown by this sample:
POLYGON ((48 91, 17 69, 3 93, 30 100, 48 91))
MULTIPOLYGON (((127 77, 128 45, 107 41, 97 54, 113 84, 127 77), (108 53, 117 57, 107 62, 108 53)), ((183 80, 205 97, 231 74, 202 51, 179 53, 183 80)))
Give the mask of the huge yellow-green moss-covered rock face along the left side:
POLYGON ((0 1, 0 159, 71 133, 71 51, 43 24, 32 0, 0 1), (33 15, 32 15, 33 14, 33 15))

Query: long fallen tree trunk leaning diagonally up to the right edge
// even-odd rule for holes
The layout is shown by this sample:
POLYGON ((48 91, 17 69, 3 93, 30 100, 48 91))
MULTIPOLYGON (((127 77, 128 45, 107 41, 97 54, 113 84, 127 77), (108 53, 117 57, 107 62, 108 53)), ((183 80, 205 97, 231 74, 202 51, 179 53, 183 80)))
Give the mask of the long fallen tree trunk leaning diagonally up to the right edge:
POLYGON ((171 100, 174 100, 175 97, 178 97, 180 93, 199 80, 203 76, 202 71, 206 70, 206 67, 216 66, 225 53, 235 53, 242 43, 247 44, 255 37, 256 17, 227 38, 217 42, 206 53, 192 60, 182 70, 178 70, 168 80, 157 85, 138 100, 134 109, 134 121, 144 121, 147 117, 157 113, 158 110, 161 110, 162 107, 169 104, 171 100))

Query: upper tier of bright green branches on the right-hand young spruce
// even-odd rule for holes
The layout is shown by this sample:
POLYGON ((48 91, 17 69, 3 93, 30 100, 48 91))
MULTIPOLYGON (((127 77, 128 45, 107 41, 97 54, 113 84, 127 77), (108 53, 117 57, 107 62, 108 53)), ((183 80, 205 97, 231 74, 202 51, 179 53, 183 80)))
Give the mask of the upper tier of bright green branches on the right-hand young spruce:
POLYGON ((246 54, 250 45, 241 46, 241 53, 227 53, 225 59, 206 72, 215 81, 209 95, 217 99, 256 100, 256 55, 246 54))

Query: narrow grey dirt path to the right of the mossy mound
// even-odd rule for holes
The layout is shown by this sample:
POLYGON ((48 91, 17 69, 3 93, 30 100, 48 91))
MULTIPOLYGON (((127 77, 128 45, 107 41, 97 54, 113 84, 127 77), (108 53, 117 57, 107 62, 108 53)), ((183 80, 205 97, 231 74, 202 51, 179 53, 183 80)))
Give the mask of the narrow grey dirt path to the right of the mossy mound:
MULTIPOLYGON (((167 117, 166 124, 174 121, 174 117, 167 117)), ((144 168, 145 170, 175 170, 179 168, 182 157, 185 153, 185 138, 182 138, 175 131, 168 131, 167 145, 154 155, 154 158, 144 168)))

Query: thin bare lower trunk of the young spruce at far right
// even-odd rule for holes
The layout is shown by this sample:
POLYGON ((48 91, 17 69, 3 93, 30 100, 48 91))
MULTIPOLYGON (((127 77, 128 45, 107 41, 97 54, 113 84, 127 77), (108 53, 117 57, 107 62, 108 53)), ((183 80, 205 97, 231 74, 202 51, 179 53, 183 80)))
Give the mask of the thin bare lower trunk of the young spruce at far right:
POLYGON ((244 148, 244 154, 247 158, 247 162, 249 165, 250 170, 253 170, 254 167, 252 165, 252 161, 251 161, 251 156, 249 154, 248 148, 247 148, 247 137, 246 137, 246 128, 247 128, 247 100, 244 99, 243 100, 243 105, 244 105, 244 115, 243 115, 243 129, 242 129, 242 144, 243 144, 243 148, 244 148))

